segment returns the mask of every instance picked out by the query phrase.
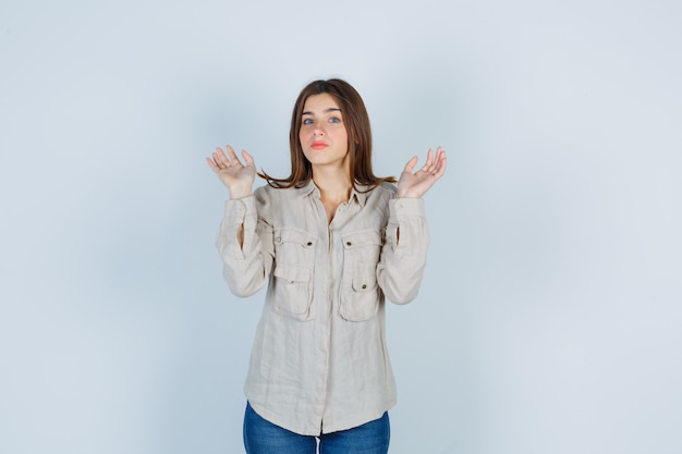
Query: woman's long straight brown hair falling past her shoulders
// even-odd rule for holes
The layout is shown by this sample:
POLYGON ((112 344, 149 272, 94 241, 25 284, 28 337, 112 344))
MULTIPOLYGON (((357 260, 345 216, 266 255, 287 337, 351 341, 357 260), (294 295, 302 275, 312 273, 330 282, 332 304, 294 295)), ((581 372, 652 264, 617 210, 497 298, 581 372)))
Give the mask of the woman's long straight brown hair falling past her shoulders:
MULTIPOLYGON (((265 172, 258 175, 267 180, 268 184, 277 188, 303 187, 313 179, 313 168, 301 147, 299 132, 305 101, 314 95, 329 94, 339 103, 343 112, 343 123, 349 139, 349 158, 351 169, 351 182, 368 185, 370 188, 383 182, 395 183, 395 177, 378 177, 372 170, 372 127, 369 115, 357 90, 345 81, 330 78, 328 81, 314 81, 301 90, 291 115, 291 128, 289 130, 289 150, 291 154, 291 174, 285 179, 275 179, 265 172)), ((356 187, 355 187, 356 188, 356 187)))

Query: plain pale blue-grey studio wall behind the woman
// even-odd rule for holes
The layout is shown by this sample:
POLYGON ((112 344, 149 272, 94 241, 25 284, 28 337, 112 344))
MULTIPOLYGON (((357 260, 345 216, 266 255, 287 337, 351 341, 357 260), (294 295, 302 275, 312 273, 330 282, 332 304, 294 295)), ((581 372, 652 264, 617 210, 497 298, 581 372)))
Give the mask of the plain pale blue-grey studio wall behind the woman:
POLYGON ((0 452, 242 452, 263 292, 214 248, 232 144, 363 94, 380 174, 448 150, 390 306, 392 454, 682 452, 678 1, 5 0, 0 452))

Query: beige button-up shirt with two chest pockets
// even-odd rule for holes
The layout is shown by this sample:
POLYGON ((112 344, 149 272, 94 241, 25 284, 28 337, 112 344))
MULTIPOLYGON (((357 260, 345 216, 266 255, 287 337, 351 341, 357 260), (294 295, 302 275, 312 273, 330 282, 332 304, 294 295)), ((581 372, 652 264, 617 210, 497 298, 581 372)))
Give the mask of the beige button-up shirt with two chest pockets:
POLYGON ((268 283, 245 393, 270 422, 317 435, 395 404, 385 295, 416 296, 429 238, 423 200, 395 191, 353 191, 331 223, 313 182, 227 201, 217 247, 230 290, 248 296, 268 283))

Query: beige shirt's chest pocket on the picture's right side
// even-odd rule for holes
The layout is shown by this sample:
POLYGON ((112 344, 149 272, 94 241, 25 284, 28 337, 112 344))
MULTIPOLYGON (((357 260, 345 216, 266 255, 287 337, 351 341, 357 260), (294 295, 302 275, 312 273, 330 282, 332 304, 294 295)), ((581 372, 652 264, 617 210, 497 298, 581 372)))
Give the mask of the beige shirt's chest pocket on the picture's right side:
POLYGON ((378 311, 381 291, 377 284, 377 263, 382 243, 382 229, 353 232, 343 236, 343 280, 339 315, 344 320, 368 320, 378 311))

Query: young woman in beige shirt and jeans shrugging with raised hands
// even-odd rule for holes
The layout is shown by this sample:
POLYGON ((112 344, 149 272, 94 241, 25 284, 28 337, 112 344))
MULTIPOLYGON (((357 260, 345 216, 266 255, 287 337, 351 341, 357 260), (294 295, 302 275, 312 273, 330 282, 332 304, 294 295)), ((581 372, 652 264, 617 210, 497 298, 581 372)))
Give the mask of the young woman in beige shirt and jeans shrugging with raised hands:
POLYGON ((412 300, 426 262, 422 196, 446 155, 417 157, 398 185, 372 170, 372 132, 357 91, 341 79, 308 84, 295 102, 291 174, 253 191, 246 151, 207 162, 230 199, 217 247, 238 296, 266 282, 245 385, 246 453, 388 452, 395 383, 385 340, 385 296, 412 300))

